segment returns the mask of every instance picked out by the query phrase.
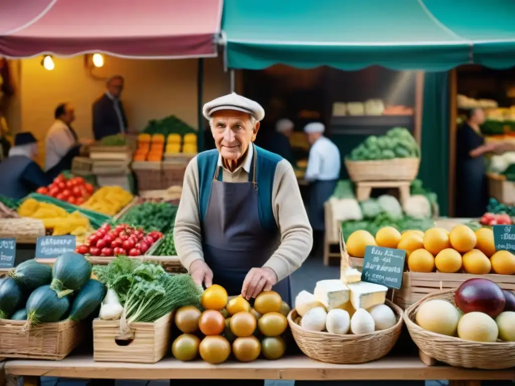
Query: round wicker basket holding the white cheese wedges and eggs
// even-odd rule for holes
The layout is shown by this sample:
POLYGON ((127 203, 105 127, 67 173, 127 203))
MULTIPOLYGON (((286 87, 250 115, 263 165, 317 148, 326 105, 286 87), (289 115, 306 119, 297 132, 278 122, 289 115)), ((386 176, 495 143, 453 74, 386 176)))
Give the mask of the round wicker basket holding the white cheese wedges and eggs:
POLYGON ((336 364, 365 363, 387 355, 401 335, 402 309, 388 300, 386 304, 396 313, 397 324, 371 334, 336 335, 308 331, 296 322, 299 315, 295 309, 291 310, 287 319, 295 342, 308 357, 336 364))

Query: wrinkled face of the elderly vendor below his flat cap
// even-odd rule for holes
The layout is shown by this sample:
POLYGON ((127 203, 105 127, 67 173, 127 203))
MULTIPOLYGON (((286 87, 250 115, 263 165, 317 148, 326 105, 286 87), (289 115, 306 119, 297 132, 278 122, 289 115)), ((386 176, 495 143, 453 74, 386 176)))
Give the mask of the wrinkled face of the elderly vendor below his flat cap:
POLYGON ((237 162, 258 134, 260 123, 250 114, 235 110, 220 110, 213 114, 211 132, 222 158, 237 162))

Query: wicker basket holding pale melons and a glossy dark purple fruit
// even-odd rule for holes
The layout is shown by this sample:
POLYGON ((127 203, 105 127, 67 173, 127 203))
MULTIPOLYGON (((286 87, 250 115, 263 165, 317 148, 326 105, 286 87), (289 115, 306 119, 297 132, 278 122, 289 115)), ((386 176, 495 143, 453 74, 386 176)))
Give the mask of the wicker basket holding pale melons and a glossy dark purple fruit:
POLYGON ((420 305, 434 299, 454 303, 454 289, 439 291, 425 296, 409 307, 404 314, 404 322, 411 339, 420 351, 440 362, 456 367, 471 369, 499 370, 515 366, 515 342, 481 343, 427 331, 415 323, 420 305))

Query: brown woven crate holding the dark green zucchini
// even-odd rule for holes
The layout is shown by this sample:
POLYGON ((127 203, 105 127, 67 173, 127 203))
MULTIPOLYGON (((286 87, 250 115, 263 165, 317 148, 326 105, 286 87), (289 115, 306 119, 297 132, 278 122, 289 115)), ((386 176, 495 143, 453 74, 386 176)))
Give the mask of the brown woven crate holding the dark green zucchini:
POLYGON ((0 319, 0 357, 61 360, 84 338, 84 325, 65 320, 21 332, 26 321, 0 319))

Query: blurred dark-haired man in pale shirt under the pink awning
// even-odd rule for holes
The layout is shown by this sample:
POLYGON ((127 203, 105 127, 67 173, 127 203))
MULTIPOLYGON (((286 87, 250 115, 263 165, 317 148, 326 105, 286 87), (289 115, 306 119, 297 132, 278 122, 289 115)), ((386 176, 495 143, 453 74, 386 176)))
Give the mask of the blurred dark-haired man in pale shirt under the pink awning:
POLYGON ((79 155, 80 144, 77 134, 71 127, 75 120, 73 106, 70 103, 59 104, 54 117, 56 120, 45 137, 45 172, 57 167, 60 169, 57 171, 59 174, 61 170, 71 167, 73 157, 79 155))

